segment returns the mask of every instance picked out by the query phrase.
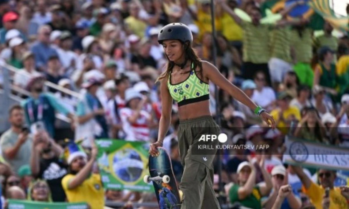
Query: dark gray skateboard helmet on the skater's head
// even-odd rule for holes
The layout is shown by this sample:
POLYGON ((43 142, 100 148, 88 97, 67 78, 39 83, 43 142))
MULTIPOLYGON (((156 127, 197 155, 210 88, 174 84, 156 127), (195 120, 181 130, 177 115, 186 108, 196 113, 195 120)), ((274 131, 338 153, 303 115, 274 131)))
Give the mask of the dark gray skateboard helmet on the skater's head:
POLYGON ((170 23, 165 25, 157 36, 157 41, 162 44, 164 40, 176 39, 183 43, 189 41, 193 43, 193 34, 191 30, 183 23, 170 23))

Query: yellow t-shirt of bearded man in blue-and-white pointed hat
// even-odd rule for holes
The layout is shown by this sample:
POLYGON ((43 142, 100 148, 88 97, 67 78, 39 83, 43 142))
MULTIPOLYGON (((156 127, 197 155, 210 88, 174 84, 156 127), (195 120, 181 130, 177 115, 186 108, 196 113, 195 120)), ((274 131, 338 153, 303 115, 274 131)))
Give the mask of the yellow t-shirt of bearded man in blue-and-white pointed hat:
POLYGON ((92 174, 80 186, 68 189, 68 183, 74 177, 75 175, 68 174, 62 179, 62 187, 67 195, 68 202, 87 202, 91 209, 103 209, 104 189, 101 176, 92 174))

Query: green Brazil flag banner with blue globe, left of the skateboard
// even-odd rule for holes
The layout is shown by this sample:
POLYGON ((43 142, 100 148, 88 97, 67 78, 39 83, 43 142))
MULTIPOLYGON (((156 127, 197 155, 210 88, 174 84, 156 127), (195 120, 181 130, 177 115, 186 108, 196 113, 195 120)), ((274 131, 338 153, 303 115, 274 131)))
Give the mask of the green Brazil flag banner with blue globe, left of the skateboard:
POLYGON ((106 189, 153 192, 151 184, 143 182, 149 175, 149 143, 101 139, 98 147, 98 167, 106 189))

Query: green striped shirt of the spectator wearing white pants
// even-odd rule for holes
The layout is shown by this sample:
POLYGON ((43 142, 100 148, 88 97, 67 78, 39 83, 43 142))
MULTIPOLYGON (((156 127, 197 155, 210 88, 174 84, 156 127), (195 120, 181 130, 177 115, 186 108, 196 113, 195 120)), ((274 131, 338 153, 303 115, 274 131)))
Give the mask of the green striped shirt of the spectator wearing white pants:
POLYGON ((270 57, 291 62, 289 27, 277 28, 270 32, 270 57))

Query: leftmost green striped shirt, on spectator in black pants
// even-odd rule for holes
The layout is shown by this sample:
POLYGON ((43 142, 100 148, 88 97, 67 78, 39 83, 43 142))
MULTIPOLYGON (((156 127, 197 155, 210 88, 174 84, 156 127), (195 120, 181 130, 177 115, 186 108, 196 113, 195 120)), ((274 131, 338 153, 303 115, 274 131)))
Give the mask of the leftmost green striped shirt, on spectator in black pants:
POLYGON ((254 64, 269 61, 269 29, 270 24, 255 26, 252 22, 242 21, 243 29, 243 61, 254 64))

